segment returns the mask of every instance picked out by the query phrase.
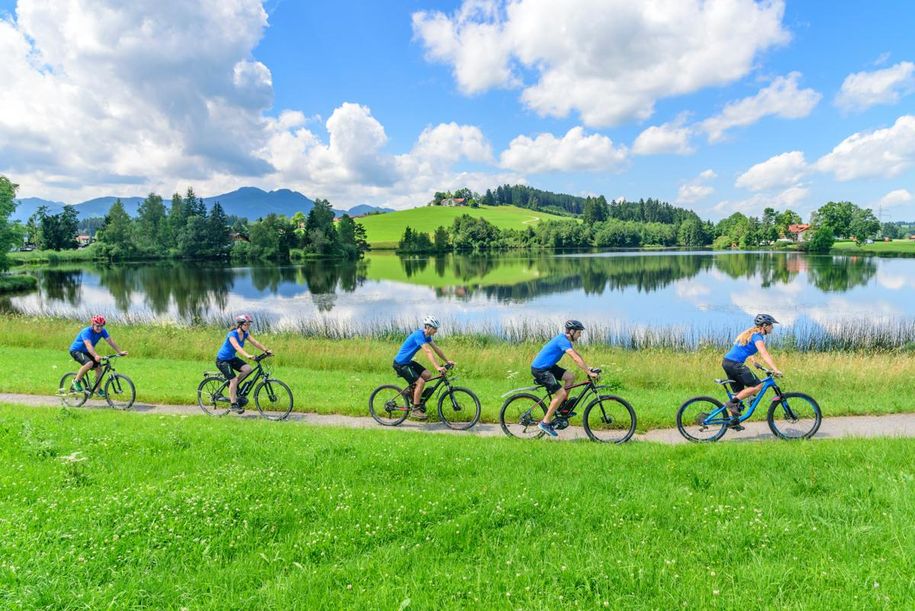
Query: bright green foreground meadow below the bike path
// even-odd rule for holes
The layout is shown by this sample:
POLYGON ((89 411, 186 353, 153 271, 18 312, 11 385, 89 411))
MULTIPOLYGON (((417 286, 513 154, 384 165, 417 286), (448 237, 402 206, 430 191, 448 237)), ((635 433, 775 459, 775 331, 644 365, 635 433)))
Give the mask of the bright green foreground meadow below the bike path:
POLYGON ((912 608, 911 450, 0 405, 0 606, 912 608))

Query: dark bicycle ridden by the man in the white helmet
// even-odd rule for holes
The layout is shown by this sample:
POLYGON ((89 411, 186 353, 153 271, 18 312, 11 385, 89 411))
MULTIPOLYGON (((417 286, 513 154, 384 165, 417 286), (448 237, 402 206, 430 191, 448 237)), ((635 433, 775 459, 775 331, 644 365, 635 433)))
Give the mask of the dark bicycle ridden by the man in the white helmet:
MULTIPOLYGON (((452 385, 458 379, 457 376, 449 375, 453 367, 447 364, 443 373, 426 380, 427 387, 423 389, 420 407, 425 409, 426 402, 433 395, 446 389, 438 398, 438 417, 448 428, 466 431, 480 421, 480 399, 469 388, 452 385), (431 382, 436 383, 430 387, 428 384, 431 382)), ((413 384, 406 388, 383 384, 372 391, 369 396, 369 413, 375 422, 382 426, 397 426, 406 420, 414 411, 414 388, 413 384)))

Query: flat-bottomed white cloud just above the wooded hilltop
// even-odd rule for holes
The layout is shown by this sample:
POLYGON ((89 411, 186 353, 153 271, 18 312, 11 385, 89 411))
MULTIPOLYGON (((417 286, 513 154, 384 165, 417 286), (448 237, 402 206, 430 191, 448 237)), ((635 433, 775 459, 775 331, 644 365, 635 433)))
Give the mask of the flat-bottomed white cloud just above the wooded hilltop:
POLYGON ((539 134, 536 138, 518 136, 500 156, 503 168, 539 174, 554 171, 615 171, 628 157, 625 146, 615 146, 607 136, 586 135, 573 127, 562 138, 539 134))

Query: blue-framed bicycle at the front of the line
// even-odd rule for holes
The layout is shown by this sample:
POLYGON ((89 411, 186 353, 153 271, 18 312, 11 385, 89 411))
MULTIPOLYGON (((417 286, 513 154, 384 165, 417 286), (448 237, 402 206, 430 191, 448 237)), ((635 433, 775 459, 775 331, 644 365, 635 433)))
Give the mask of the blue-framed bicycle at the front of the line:
MULTIPOLYGON (((810 439, 820 428, 823 417, 820 406, 810 395, 800 392, 782 392, 775 382, 775 372, 766 369, 759 363, 756 368, 766 372, 762 388, 753 399, 749 409, 744 413, 744 403, 740 402, 740 422, 753 415, 753 412, 762 403, 763 396, 771 388, 775 392, 766 421, 772 434, 779 439, 810 439)), ((728 395, 734 396, 731 384, 734 380, 715 378, 728 395)), ((677 410, 677 429, 689 441, 711 442, 721 439, 731 424, 731 415, 724 404, 713 397, 693 397, 680 406, 677 410)))

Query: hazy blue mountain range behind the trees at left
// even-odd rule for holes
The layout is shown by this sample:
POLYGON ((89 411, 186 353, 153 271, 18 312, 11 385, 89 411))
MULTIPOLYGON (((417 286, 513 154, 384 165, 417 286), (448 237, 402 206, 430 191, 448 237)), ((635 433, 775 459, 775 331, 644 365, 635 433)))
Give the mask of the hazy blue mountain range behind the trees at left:
MULTIPOLYGON (((127 211, 127 214, 136 217, 137 209, 145 198, 118 198, 114 196, 97 197, 78 204, 73 204, 73 206, 76 208, 80 220, 82 220, 94 216, 105 216, 111 208, 111 205, 117 199, 120 199, 121 203, 124 204, 124 209, 127 211)), ((50 214, 57 214, 61 212, 66 205, 63 202, 55 202, 38 197, 23 197, 16 201, 18 202, 18 205, 11 218, 14 221, 22 222, 28 220, 40 206, 47 206, 50 214)), ((257 187, 242 187, 241 189, 223 193, 222 195, 204 197, 203 202, 206 204, 207 209, 212 208, 213 204, 219 202, 226 214, 244 217, 248 220, 266 216, 271 212, 282 214, 287 217, 292 216, 296 212, 308 214, 315 205, 314 201, 305 197, 298 191, 277 189, 276 191, 268 192, 263 189, 258 189, 257 187)), ((166 207, 168 207, 170 205, 170 200, 166 199, 164 203, 166 207)), ((391 212, 391 208, 360 204, 354 206, 350 210, 334 210, 334 214, 337 216, 342 216, 343 214, 362 216, 364 214, 376 212, 391 212)))

